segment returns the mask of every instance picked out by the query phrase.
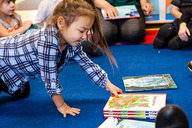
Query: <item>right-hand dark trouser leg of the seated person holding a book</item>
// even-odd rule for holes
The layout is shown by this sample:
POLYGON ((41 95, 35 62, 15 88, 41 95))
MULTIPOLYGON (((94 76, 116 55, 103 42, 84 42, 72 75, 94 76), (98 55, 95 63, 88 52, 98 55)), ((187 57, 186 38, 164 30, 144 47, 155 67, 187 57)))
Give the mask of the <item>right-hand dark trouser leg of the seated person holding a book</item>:
POLYGON ((143 12, 138 9, 139 18, 130 18, 119 20, 120 34, 123 40, 128 43, 139 43, 144 40, 145 32, 145 17, 143 12))

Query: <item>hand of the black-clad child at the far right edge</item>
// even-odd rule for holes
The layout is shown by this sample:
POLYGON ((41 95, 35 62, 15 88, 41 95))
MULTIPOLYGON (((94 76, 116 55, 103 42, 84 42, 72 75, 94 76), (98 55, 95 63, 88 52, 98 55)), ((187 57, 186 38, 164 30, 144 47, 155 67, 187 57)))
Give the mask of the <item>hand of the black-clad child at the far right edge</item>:
POLYGON ((180 24, 178 36, 182 41, 188 41, 189 40, 188 36, 191 36, 191 33, 190 33, 189 29, 187 28, 186 23, 183 22, 180 24))

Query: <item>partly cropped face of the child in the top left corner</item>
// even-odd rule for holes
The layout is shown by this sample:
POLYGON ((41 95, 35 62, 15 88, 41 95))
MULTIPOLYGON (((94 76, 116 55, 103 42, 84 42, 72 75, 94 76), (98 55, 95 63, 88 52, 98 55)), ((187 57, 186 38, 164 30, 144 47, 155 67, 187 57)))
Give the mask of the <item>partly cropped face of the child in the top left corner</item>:
POLYGON ((5 15, 13 15, 15 11, 15 0, 5 0, 1 4, 0 12, 5 15))

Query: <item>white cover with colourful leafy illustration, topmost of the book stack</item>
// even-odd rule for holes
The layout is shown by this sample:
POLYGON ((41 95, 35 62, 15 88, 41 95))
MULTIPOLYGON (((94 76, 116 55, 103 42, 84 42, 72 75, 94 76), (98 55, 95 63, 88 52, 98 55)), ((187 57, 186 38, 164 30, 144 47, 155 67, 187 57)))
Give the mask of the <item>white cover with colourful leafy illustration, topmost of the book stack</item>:
POLYGON ((147 111, 158 112, 166 105, 166 93, 123 93, 110 96, 103 112, 147 111))

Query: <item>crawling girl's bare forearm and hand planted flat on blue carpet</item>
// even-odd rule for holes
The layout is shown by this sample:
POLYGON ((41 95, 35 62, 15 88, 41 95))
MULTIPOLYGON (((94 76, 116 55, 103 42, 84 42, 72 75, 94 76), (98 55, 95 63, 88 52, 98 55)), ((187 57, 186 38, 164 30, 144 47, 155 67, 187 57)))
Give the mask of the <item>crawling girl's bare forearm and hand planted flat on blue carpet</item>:
POLYGON ((80 113, 80 109, 69 107, 63 100, 62 95, 52 95, 51 98, 55 103, 57 110, 63 114, 63 117, 66 117, 67 114, 75 116, 76 114, 80 113))

